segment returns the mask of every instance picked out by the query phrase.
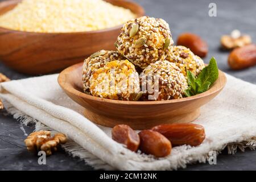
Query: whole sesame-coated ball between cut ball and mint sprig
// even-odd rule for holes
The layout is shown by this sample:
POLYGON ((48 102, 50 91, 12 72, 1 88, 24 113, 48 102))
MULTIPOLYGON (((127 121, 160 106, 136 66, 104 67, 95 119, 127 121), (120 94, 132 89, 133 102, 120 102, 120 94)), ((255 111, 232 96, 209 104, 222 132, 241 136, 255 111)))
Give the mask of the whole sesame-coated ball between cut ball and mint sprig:
POLYGON ((184 90, 188 88, 187 79, 181 70, 166 60, 148 65, 140 77, 144 101, 183 98, 184 90))

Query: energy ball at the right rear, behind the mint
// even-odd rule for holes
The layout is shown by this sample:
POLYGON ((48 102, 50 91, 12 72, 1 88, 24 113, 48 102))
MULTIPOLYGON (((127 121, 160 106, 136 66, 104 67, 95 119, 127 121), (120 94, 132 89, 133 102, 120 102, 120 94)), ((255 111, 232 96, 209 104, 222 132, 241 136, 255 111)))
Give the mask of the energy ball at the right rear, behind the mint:
POLYGON ((173 46, 166 60, 175 63, 185 77, 187 77, 187 70, 198 75, 205 67, 204 61, 184 46, 173 46))

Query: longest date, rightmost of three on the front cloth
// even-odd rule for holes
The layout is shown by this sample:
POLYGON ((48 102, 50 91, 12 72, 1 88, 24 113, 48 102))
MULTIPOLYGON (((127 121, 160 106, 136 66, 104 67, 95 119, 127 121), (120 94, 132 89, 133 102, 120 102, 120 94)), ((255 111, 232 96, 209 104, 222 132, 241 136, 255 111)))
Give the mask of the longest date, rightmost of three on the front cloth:
POLYGON ((199 146, 205 139, 204 127, 193 123, 174 123, 152 128, 171 141, 172 146, 188 144, 199 146))

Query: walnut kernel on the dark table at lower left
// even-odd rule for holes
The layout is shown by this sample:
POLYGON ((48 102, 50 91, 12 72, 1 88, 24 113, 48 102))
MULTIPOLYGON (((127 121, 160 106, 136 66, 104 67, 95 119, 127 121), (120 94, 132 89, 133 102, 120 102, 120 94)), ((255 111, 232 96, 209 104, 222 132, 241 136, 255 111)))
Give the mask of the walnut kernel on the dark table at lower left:
POLYGON ((52 151, 57 151, 59 144, 67 142, 67 137, 61 133, 51 137, 51 131, 36 131, 31 133, 24 142, 30 152, 42 150, 46 152, 46 155, 52 155, 52 151))

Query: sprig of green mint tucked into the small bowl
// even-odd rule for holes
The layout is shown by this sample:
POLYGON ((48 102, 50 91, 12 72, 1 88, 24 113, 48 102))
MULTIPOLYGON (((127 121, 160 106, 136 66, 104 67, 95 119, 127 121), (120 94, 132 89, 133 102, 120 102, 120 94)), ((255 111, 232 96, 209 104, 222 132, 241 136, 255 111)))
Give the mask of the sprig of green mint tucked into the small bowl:
POLYGON ((218 79, 218 65, 216 59, 212 57, 209 65, 205 67, 197 77, 195 77, 191 71, 187 71, 187 77, 188 89, 184 92, 186 97, 195 96, 196 94, 207 91, 218 79))

